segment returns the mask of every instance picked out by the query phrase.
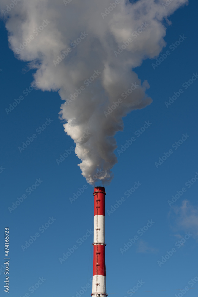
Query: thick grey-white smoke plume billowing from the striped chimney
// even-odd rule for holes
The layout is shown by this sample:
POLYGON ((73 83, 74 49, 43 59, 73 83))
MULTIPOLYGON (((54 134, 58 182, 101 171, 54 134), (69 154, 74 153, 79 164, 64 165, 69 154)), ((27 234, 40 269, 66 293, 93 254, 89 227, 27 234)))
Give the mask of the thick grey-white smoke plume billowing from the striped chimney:
POLYGON ((1 0, 9 46, 58 91, 60 117, 76 143, 82 175, 108 184, 122 118, 151 104, 132 71, 166 45, 164 23, 187 0, 1 0))

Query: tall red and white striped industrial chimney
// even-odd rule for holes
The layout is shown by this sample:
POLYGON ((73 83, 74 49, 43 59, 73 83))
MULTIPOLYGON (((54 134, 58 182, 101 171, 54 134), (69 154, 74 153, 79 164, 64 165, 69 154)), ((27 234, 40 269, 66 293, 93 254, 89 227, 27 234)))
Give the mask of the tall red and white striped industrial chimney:
POLYGON ((105 267, 105 188, 94 188, 93 297, 107 296, 105 267))

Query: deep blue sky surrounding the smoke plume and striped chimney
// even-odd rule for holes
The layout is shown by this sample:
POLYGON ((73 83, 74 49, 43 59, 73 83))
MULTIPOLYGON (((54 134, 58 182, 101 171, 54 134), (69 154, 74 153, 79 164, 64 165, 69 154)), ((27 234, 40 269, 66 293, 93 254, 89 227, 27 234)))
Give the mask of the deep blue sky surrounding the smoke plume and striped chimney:
MULTIPOLYGON (((106 187, 105 214, 107 293, 112 297, 132 296, 125 292, 133 289, 138 281, 143 282, 138 288, 138 296, 173 297, 179 293, 197 296, 197 289, 194 289, 198 287, 196 8, 197 2, 190 1, 188 6, 178 9, 169 18, 172 25, 167 26, 164 37, 167 45, 161 53, 169 50, 170 54, 158 63, 158 67, 153 69, 155 59, 147 59, 134 69, 142 81, 148 80, 150 89, 147 94, 153 103, 128 114, 124 118, 124 131, 116 134, 118 163, 113 167, 114 179, 106 187), (171 45, 180 35, 185 38, 180 39, 182 42, 172 50, 171 45), (189 82, 189 86, 185 82, 189 82), (183 92, 167 107, 165 102, 174 96, 174 92, 179 94, 180 89, 183 92), (146 129, 145 122, 150 123, 146 129), (138 129, 142 134, 138 134, 138 129), (121 153, 121 148, 132 137, 135 140, 121 153), (172 147, 174 143, 179 145, 172 147), (163 157, 164 153, 168 157, 163 157), (156 165, 159 158, 164 162, 156 165), (190 184, 189 180, 192 180, 190 184), (134 191, 135 183, 138 188, 134 191), (134 192, 128 195, 131 188, 134 192), (171 201, 177 191, 182 195, 170 206, 168 200, 171 201), (116 200, 119 200, 119 207, 116 200), (148 230, 145 227, 145 232, 138 231, 147 226, 148 220, 153 222, 148 224, 148 230), (134 236, 135 243, 129 244, 127 249, 129 239, 134 236), (184 243, 181 245, 178 241, 184 243), (126 251, 123 251, 124 247, 126 251), (175 250, 171 255, 172 249, 175 250), (158 263, 167 251, 170 258, 163 264, 158 263), (194 283, 191 279, 195 279, 194 283), (192 289, 185 294, 177 290, 186 286, 192 289), (171 289, 175 290, 163 291, 171 289)), ((58 93, 31 91, 30 88, 25 95, 24 90, 31 86, 34 71, 27 71, 27 63, 15 58, 8 47, 4 23, 1 21, 0 24, 0 266, 4 267, 4 228, 9 227, 9 296, 20 297, 26 293, 38 297, 90 296, 93 187, 81 175, 75 152, 68 151, 75 147, 75 143, 66 135, 63 122, 58 118, 62 104, 58 93), (24 99, 7 114, 6 108, 20 96, 24 99), (18 147, 28 138, 32 142, 20 152, 18 147), (65 150, 68 157, 57 164, 56 159, 60 159, 65 150), (80 195, 71 203, 69 198, 77 192, 80 195), (22 195, 26 195, 23 202, 9 211, 12 203, 22 195), (42 225, 45 224, 44 229, 42 225), (38 237, 35 237, 36 233, 38 237), (86 233, 91 235, 87 237, 86 233), (31 236, 34 242, 23 248, 31 236), (75 250, 72 249, 74 245, 75 250), (69 249, 72 254, 60 263, 59 258, 63 258, 69 249), (37 290, 28 291, 39 278, 43 281, 37 290), (77 292, 86 285, 86 292, 82 294, 81 291, 78 295, 77 292)), ((3 288, 4 280, 5 275, 1 273, 1 296, 7 294, 3 288)))

